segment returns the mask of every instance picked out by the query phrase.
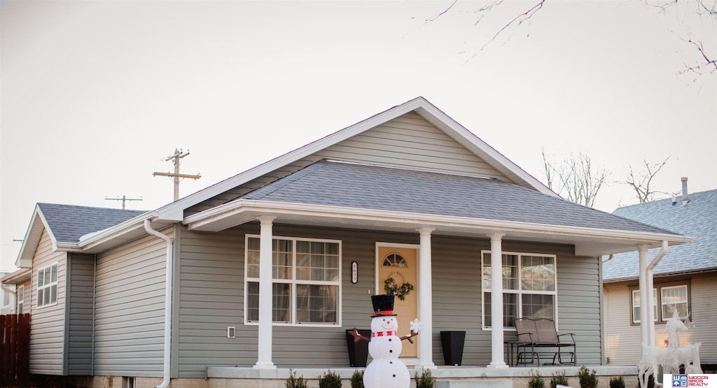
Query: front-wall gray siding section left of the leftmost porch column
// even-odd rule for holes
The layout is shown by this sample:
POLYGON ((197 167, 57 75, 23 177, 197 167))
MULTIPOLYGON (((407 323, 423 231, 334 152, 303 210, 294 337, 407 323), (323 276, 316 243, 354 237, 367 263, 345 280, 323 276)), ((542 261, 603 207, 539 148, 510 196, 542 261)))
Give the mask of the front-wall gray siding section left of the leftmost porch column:
POLYGON ((204 376, 205 365, 253 364, 257 328, 242 327, 244 234, 182 228, 179 241, 178 376, 204 376), (237 328, 237 338, 227 338, 227 326, 237 328))

